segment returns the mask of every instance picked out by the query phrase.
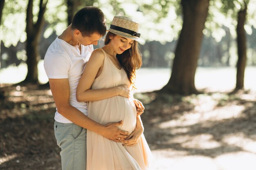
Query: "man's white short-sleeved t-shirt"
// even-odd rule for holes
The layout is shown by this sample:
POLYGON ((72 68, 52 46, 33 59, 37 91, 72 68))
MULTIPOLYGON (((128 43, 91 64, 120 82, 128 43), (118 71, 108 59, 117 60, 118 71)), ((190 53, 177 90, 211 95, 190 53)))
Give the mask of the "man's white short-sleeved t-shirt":
MULTIPOLYGON (((92 45, 81 45, 80 53, 78 48, 75 48, 57 37, 49 46, 44 59, 47 77, 49 79, 68 78, 70 84, 70 104, 85 115, 88 114, 87 103, 77 102, 76 87, 92 51, 92 45)), ((57 108, 54 119, 61 123, 72 123, 72 121, 58 113, 57 108)))

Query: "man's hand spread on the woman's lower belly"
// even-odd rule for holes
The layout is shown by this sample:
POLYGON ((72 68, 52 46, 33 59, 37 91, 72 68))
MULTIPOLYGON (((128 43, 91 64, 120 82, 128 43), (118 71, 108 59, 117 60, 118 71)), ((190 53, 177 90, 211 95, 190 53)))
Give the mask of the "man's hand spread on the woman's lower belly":
POLYGON ((107 139, 110 139, 115 142, 120 142, 129 137, 129 133, 123 130, 120 130, 117 126, 123 124, 123 121, 108 123, 105 125, 105 129, 100 134, 107 139))

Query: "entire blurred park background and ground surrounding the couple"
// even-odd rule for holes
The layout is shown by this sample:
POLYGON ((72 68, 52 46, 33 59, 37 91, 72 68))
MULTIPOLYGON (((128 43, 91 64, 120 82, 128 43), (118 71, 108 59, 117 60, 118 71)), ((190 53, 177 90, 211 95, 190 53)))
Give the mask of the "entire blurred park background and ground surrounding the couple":
POLYGON ((107 28, 115 15, 141 24, 137 79, 146 93, 135 97, 146 107, 152 170, 255 170, 256 0, 0 0, 0 168, 61 169, 42 63, 74 13, 91 5, 107 28))

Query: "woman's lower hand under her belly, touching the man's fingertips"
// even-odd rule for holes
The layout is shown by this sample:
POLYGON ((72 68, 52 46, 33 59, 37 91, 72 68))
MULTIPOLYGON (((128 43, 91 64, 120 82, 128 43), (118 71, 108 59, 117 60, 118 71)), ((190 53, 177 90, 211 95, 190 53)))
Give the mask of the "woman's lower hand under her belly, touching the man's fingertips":
POLYGON ((143 127, 135 128, 135 130, 129 135, 126 140, 121 141, 123 143, 123 146, 135 146, 138 143, 143 131, 143 127))

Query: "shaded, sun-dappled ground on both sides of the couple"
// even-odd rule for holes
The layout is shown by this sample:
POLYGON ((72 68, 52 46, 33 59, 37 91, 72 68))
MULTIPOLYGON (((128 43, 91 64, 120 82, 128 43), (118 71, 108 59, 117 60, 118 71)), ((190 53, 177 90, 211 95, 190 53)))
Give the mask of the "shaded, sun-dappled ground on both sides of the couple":
MULTIPOLYGON (((0 169, 61 170, 49 88, 0 88, 0 169)), ((136 93, 151 170, 255 170, 256 93, 136 93)))

